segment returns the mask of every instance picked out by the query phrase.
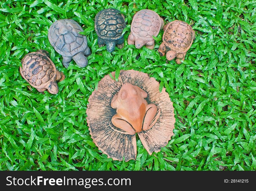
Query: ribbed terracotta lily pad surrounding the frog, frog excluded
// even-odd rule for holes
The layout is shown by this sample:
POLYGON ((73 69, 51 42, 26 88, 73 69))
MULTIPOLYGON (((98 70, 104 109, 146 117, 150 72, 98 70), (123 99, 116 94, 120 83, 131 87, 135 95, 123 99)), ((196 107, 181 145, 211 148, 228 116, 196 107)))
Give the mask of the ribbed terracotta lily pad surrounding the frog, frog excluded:
MULTIPOLYGON (((115 72, 111 74, 115 76, 115 72)), ((106 75, 99 81, 97 90, 94 90, 88 99, 86 119, 90 135, 97 147, 109 158, 120 161, 123 158, 125 161, 136 160, 137 155, 136 134, 120 132, 120 129, 117 130, 111 122, 111 118, 116 114, 116 109, 111 107, 111 100, 125 83, 138 86, 147 92, 146 101, 154 103, 160 110, 159 118, 154 126, 138 133, 143 146, 150 155, 168 144, 173 135, 175 123, 173 103, 170 101, 169 94, 165 88, 159 92, 159 82, 154 78, 135 70, 121 70, 118 81, 106 75)))

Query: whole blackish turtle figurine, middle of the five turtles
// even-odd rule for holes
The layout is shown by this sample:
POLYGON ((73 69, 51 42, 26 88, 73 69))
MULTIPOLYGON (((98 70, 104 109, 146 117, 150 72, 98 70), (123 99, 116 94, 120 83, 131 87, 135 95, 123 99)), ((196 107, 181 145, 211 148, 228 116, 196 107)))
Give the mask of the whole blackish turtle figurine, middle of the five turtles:
POLYGON ((98 45, 106 44, 109 52, 115 50, 115 45, 121 49, 124 47, 124 35, 122 32, 126 27, 125 16, 116 9, 101 10, 95 16, 95 31, 98 35, 98 45))

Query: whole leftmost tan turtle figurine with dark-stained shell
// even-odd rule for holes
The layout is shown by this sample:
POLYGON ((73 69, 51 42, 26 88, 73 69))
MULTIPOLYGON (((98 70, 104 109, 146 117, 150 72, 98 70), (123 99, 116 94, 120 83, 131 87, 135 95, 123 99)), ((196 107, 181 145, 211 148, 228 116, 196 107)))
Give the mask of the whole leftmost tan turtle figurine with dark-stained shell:
POLYGON ((63 72, 59 72, 45 50, 31 52, 21 60, 19 67, 21 76, 38 92, 48 90, 51 94, 59 91, 56 81, 65 79, 63 72))

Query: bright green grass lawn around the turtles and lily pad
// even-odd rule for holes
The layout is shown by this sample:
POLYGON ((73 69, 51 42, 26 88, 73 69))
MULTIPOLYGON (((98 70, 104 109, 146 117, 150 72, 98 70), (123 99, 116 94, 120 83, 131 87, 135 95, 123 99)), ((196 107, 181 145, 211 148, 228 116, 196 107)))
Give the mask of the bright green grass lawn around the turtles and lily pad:
POLYGON ((256 1, 0 1, 1 170, 255 170, 256 1), (136 3, 137 2, 137 3, 136 3), (116 8, 126 15, 125 46, 99 48, 95 15, 116 8), (196 33, 177 65, 157 49, 127 44, 132 16, 156 11, 165 23, 183 20, 196 33), (89 65, 65 69, 51 47, 48 28, 70 18, 85 30, 89 65), (57 95, 40 94, 19 74, 26 53, 45 49, 66 79, 57 95), (138 56, 140 55, 140 57, 138 56), (136 59, 137 58, 137 59, 136 59), (166 88, 175 108, 175 135, 148 155, 137 138, 137 159, 113 161, 93 143, 86 124, 88 97, 110 72, 135 69, 166 88))

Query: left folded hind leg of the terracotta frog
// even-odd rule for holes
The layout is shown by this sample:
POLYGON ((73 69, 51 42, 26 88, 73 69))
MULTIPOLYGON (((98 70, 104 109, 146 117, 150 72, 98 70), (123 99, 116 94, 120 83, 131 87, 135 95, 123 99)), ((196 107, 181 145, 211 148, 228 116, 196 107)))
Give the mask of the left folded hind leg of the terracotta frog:
POLYGON ((111 119, 111 122, 114 126, 122 129, 123 131, 127 132, 130 135, 134 135, 136 133, 131 124, 129 124, 121 115, 114 115, 111 119))

